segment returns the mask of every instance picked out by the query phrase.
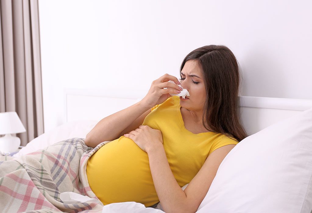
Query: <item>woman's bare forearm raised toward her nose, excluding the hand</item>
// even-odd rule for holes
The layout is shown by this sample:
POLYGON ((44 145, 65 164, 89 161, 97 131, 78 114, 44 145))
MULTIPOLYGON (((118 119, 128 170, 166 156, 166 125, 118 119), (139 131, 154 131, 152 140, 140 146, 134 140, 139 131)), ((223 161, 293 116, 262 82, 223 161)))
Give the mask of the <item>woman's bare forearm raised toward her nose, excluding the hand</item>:
POLYGON ((87 134, 85 144, 95 147, 100 142, 115 140, 125 128, 150 108, 140 101, 103 118, 87 134))

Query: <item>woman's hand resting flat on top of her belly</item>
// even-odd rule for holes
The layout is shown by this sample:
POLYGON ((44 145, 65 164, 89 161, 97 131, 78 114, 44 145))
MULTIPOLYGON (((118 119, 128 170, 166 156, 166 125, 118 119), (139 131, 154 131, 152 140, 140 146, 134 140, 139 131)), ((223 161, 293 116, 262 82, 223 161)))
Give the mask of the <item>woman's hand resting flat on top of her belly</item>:
POLYGON ((140 125, 139 128, 124 134, 124 137, 134 141, 144 152, 163 144, 163 135, 160 130, 153 129, 148 125, 140 125))

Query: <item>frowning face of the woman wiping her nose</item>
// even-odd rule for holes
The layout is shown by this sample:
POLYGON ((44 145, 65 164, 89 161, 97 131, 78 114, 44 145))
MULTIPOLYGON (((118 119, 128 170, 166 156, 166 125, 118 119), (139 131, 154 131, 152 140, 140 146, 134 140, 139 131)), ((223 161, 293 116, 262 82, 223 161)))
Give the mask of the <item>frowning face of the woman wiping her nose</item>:
POLYGON ((180 97, 180 105, 194 112, 202 112, 206 100, 206 89, 202 77, 202 68, 197 60, 188 60, 185 62, 181 71, 181 86, 187 89, 189 99, 180 97), (190 76, 196 75, 196 76, 190 76))

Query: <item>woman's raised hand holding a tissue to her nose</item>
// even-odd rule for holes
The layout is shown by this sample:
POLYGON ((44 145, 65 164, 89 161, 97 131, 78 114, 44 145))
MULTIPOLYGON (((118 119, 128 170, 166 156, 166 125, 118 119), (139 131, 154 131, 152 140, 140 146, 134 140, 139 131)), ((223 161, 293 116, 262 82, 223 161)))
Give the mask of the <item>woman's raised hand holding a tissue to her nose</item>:
POLYGON ((141 102, 143 102, 149 108, 152 108, 157 104, 161 104, 169 97, 172 97, 172 95, 169 93, 179 94, 181 92, 181 89, 177 84, 181 84, 178 81, 178 78, 166 73, 160 78, 152 81, 149 92, 147 92, 146 96, 141 100, 141 102), (175 84, 168 82, 169 80, 174 81, 175 84))

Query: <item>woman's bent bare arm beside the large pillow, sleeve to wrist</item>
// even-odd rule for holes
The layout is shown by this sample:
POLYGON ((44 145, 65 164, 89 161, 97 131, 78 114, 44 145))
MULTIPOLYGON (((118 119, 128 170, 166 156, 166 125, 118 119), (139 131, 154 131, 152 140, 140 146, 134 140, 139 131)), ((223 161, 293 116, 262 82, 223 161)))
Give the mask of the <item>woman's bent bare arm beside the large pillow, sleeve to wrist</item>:
POLYGON ((149 146, 147 148, 149 167, 163 210, 168 213, 196 212, 204 200, 220 164, 235 145, 223 145, 212 151, 184 191, 173 176, 162 143, 158 143, 154 147, 149 146))

